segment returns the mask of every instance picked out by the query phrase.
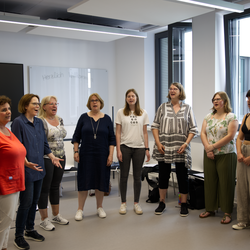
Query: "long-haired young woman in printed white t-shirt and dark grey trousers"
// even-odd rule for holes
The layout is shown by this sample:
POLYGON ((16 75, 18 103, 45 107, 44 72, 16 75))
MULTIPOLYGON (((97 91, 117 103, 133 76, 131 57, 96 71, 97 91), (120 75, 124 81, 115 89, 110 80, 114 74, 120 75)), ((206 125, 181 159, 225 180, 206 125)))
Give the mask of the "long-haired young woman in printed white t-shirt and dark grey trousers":
POLYGON ((147 124, 149 124, 148 114, 140 108, 139 96, 134 89, 129 89, 125 95, 125 107, 119 109, 116 116, 116 149, 117 158, 120 163, 120 191, 121 207, 120 214, 126 214, 126 193, 129 175, 130 162, 133 163, 134 177, 134 211, 142 214, 139 205, 141 193, 141 170, 147 156, 150 160, 148 147, 147 124))

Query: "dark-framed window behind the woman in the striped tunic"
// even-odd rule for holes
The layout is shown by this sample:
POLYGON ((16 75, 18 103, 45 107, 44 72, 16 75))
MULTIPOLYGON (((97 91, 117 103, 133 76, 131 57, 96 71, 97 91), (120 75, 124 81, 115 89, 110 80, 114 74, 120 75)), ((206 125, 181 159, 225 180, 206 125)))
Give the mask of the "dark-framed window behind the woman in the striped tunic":
POLYGON ((155 35, 156 108, 167 101, 172 82, 180 82, 192 104, 192 24, 175 23, 155 35))

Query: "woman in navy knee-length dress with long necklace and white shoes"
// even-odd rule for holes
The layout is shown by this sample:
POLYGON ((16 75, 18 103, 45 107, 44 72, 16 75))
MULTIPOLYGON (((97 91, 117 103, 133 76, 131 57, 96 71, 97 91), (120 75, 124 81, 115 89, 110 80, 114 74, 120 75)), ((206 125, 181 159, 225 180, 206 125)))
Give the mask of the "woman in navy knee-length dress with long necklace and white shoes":
POLYGON ((80 116, 72 138, 74 160, 78 162, 76 221, 83 219, 83 208, 91 189, 95 190, 98 216, 106 217, 102 203, 104 192, 109 191, 110 166, 116 145, 113 123, 108 115, 101 112, 104 101, 100 95, 91 94, 87 107, 89 112, 80 116))

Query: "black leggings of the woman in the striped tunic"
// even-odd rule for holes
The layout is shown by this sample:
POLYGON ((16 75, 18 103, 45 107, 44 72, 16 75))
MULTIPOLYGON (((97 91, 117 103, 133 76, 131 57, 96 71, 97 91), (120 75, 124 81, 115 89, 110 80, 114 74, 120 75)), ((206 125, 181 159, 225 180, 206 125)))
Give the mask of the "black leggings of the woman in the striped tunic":
MULTIPOLYGON (((159 188, 168 189, 169 178, 171 173, 171 164, 159 161, 159 188)), ((189 192, 188 186, 188 169, 185 167, 185 162, 175 162, 177 182, 179 192, 187 194, 189 192)))

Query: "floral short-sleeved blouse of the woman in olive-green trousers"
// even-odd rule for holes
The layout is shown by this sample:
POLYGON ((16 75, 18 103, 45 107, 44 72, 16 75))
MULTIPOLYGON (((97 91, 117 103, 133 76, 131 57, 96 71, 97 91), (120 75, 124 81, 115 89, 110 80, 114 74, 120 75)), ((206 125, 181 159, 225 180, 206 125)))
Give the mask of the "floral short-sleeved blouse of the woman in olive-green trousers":
MULTIPOLYGON (((207 122, 206 134, 208 143, 214 144, 228 133, 228 125, 231 121, 237 121, 236 115, 228 113, 224 119, 215 119, 214 114, 210 113, 205 117, 207 122)), ((215 155, 229 154, 235 152, 235 141, 232 140, 221 148, 213 150, 215 155)))

